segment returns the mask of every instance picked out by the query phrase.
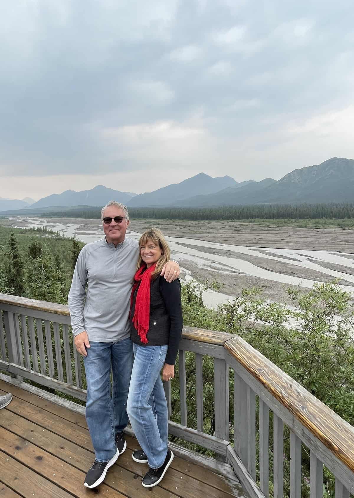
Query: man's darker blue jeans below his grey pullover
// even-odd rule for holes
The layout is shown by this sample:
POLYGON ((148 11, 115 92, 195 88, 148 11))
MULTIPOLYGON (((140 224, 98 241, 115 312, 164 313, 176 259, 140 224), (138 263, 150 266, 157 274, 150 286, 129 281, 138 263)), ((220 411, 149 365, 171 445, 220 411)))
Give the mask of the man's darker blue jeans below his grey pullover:
POLYGON ((117 451, 115 433, 122 432, 128 424, 126 406, 134 361, 133 343, 128 338, 114 343, 90 342, 90 346, 84 357, 86 421, 96 460, 108 462, 117 451))

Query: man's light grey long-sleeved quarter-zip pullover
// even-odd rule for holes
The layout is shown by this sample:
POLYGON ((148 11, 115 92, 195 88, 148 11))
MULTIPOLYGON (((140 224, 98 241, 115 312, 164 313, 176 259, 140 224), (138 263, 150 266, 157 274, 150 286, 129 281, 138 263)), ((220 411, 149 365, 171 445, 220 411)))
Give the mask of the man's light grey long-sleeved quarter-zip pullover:
POLYGON ((129 238, 117 247, 106 239, 83 247, 68 295, 74 336, 86 330, 91 342, 130 337, 130 296, 138 255, 138 241, 129 238))

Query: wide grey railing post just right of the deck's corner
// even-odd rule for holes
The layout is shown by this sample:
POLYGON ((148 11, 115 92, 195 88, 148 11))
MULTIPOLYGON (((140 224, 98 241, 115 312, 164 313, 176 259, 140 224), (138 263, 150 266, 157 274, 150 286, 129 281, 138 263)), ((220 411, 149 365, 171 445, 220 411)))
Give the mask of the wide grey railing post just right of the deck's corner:
POLYGON ((243 465, 247 467, 248 461, 248 420, 247 420, 247 384, 235 372, 234 380, 234 447, 243 465))

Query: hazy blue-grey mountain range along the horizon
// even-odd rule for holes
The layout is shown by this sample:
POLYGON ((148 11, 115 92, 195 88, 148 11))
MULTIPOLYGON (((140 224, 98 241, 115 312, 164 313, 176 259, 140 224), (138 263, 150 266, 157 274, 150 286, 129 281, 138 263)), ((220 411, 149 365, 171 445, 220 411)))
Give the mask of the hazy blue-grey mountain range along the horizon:
MULTIPOLYGON (((31 204, 30 209, 38 212, 40 208, 54 206, 103 206, 111 199, 129 208, 354 202, 354 160, 332 157, 318 165, 294 169, 278 181, 265 178, 238 183, 230 176, 212 178, 199 173, 180 183, 140 195, 97 185, 91 190, 66 190, 43 197, 31 204)), ((28 208, 29 204, 25 202, 28 200, 31 201, 0 198, 0 211, 28 208)))

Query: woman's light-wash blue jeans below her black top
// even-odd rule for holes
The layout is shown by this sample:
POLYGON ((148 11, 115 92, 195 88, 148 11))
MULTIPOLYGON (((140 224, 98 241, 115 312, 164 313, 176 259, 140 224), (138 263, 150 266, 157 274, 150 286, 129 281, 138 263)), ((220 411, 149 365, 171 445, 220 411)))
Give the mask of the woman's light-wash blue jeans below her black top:
POLYGON ((149 467, 158 469, 165 462, 168 442, 168 413, 161 369, 168 346, 133 344, 134 365, 127 411, 149 467))

